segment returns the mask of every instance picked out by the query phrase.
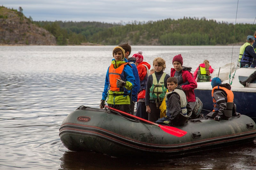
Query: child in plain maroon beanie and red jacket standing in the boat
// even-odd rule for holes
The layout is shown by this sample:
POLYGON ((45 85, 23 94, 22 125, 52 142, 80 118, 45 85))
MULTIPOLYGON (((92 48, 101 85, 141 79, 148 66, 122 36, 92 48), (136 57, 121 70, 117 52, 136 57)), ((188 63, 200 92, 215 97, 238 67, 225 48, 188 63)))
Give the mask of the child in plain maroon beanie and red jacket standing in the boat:
POLYGON ((184 67, 181 54, 175 55, 172 59, 171 77, 178 79, 178 85, 184 90, 188 102, 196 101, 194 89, 197 87, 196 80, 193 78, 191 67, 184 67))

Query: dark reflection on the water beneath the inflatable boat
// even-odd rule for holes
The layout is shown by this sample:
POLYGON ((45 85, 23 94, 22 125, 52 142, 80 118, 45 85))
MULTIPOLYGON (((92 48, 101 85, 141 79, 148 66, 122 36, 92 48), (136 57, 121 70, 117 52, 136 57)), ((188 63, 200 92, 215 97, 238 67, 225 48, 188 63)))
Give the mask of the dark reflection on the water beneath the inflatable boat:
POLYGON ((178 158, 114 158, 93 152, 65 152, 63 169, 254 169, 255 144, 207 150, 178 158), (235 150, 235 151, 234 151, 235 150), (254 161, 252 161, 254 160, 254 161))

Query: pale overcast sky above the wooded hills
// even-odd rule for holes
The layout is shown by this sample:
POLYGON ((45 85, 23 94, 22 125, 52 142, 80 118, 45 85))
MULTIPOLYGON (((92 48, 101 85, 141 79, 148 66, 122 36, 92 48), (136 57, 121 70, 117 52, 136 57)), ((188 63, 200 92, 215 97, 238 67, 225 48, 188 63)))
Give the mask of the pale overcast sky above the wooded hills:
MULTIPOLYGON (((253 24, 256 0, 1 0, 0 5, 22 7, 34 21, 149 21, 205 17, 228 23, 253 24)), ((256 24, 256 21, 254 22, 256 24)))

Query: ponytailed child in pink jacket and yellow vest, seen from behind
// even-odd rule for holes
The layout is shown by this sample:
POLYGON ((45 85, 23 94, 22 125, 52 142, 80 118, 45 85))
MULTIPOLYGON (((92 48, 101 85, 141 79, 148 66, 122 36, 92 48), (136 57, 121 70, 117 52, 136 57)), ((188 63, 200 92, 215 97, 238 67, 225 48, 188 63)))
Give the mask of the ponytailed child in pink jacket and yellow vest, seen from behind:
POLYGON ((199 64, 199 66, 196 68, 196 71, 194 72, 193 76, 195 80, 197 77, 196 82, 207 82, 211 81, 210 74, 212 74, 213 71, 214 70, 210 66, 209 61, 204 60, 204 62, 199 64))

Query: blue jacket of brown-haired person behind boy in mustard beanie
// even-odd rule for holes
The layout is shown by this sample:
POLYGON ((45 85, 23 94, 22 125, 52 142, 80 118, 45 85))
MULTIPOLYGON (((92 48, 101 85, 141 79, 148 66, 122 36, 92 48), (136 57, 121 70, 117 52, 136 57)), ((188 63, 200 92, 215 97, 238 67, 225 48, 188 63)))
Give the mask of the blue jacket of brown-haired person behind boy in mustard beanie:
POLYGON ((136 59, 132 60, 135 58, 128 58, 128 62, 133 62, 130 63, 132 65, 132 72, 133 72, 133 76, 135 78, 135 85, 134 88, 132 88, 132 101, 136 102, 138 100, 138 92, 141 90, 140 89, 140 77, 139 77, 139 73, 138 73, 138 69, 137 66, 135 65, 136 59))

